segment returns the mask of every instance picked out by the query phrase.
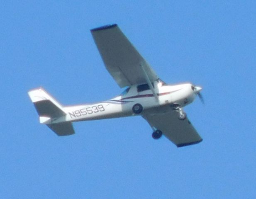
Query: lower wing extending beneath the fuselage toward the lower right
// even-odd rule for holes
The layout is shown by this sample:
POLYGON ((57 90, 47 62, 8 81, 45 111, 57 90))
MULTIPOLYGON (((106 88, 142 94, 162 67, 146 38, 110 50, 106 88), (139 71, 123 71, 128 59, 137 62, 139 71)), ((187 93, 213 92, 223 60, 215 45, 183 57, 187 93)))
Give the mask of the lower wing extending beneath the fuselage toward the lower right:
POLYGON ((171 111, 167 113, 146 114, 144 119, 154 127, 163 132, 177 147, 197 144, 202 141, 193 125, 188 119, 178 119, 178 112, 171 111))

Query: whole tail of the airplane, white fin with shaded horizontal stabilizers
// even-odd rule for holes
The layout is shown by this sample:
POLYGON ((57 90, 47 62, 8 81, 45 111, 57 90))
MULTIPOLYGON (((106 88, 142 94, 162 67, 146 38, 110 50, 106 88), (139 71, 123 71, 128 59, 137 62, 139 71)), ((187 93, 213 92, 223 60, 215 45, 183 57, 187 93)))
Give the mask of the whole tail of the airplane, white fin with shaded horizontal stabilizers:
POLYGON ((52 121, 65 116, 63 107, 43 88, 37 88, 28 92, 30 99, 39 114, 41 124, 46 124, 58 136, 68 136, 75 133, 71 122, 51 124, 52 121))

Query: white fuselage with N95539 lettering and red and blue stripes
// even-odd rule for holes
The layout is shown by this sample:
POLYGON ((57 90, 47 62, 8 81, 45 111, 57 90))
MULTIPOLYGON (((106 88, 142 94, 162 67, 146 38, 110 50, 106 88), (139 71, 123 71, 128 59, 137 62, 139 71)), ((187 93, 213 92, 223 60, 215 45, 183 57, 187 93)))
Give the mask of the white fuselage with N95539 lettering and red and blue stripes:
POLYGON ((134 104, 141 104, 145 112, 155 107, 164 109, 165 106, 170 107, 173 104, 184 107, 195 99, 196 94, 190 83, 167 85, 161 81, 155 81, 152 85, 157 97, 153 95, 149 85, 133 85, 127 87, 122 94, 107 101, 63 107, 66 115, 51 123, 134 116, 138 115, 132 111, 134 104))

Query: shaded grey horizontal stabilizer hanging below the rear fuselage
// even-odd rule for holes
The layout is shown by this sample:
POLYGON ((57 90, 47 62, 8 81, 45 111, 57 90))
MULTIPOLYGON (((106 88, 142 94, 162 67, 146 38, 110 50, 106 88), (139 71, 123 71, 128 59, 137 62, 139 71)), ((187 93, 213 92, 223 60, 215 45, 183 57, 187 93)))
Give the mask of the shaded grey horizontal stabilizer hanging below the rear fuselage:
POLYGON ((69 136, 75 133, 71 122, 46 124, 58 136, 69 136))

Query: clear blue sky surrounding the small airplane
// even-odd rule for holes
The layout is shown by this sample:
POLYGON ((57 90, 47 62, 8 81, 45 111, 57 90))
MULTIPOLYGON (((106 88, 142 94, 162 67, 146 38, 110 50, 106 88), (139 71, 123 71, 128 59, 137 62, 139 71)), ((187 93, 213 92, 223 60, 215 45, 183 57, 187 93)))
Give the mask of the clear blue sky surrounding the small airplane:
POLYGON ((0 198, 254 198, 255 1, 3 1, 0 198), (58 137, 27 91, 62 104, 122 92, 90 29, 117 23, 167 83, 202 85, 185 111, 202 143, 155 141, 141 117, 78 122, 58 137))

